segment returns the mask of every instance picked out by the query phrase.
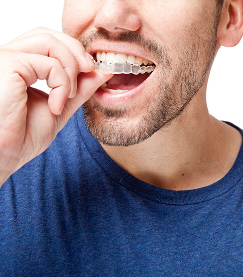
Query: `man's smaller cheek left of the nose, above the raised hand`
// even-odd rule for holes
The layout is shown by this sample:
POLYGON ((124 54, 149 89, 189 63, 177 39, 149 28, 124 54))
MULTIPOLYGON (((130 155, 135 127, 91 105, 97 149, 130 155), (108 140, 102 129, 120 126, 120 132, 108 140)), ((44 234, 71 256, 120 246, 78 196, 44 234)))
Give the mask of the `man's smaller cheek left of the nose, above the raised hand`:
POLYGON ((93 25, 96 2, 96 0, 65 0, 62 16, 63 32, 78 38, 84 30, 87 31, 93 25))

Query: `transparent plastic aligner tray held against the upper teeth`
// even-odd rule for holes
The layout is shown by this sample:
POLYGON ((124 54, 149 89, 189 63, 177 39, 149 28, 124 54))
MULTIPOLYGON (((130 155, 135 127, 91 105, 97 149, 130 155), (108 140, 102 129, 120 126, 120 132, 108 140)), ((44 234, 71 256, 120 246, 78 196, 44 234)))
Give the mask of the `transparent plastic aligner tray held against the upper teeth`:
POLYGON ((112 73, 112 74, 130 74, 133 73, 138 75, 139 73, 144 74, 146 72, 150 73, 154 71, 155 66, 140 66, 139 64, 123 64, 121 61, 113 61, 109 63, 108 61, 95 62, 94 61, 94 70, 102 73, 112 73))

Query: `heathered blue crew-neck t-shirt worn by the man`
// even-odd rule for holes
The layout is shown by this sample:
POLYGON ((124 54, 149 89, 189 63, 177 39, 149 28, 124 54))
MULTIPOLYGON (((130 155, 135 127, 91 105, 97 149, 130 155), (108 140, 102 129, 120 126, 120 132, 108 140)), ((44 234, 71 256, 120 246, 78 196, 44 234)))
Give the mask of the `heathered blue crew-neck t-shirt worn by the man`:
POLYGON ((0 189, 0 276, 243 276, 242 176, 241 146, 208 187, 144 183, 106 155, 78 110, 0 189))

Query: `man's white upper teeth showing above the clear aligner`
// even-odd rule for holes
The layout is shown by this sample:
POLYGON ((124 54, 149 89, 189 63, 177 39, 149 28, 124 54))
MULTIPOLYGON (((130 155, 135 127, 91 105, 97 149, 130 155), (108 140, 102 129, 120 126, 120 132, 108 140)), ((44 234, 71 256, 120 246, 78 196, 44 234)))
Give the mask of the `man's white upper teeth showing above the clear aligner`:
POLYGON ((143 60, 139 57, 135 57, 133 55, 126 55, 126 54, 115 54, 111 52, 97 52, 96 59, 98 62, 108 61, 112 63, 113 61, 121 61, 122 63, 130 63, 130 64, 144 64, 144 65, 151 65, 153 62, 148 60, 143 60))

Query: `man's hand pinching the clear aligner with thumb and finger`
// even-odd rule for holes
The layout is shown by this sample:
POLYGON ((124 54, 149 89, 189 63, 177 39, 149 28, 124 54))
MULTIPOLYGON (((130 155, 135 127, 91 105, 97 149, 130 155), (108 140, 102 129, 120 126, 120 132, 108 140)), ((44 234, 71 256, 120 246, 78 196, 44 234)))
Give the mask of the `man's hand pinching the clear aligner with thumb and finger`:
POLYGON ((112 77, 94 72, 85 55, 79 41, 46 28, 0 46, 0 186, 45 151, 71 115, 112 77), (37 79, 47 80, 50 95, 30 87, 37 79))

